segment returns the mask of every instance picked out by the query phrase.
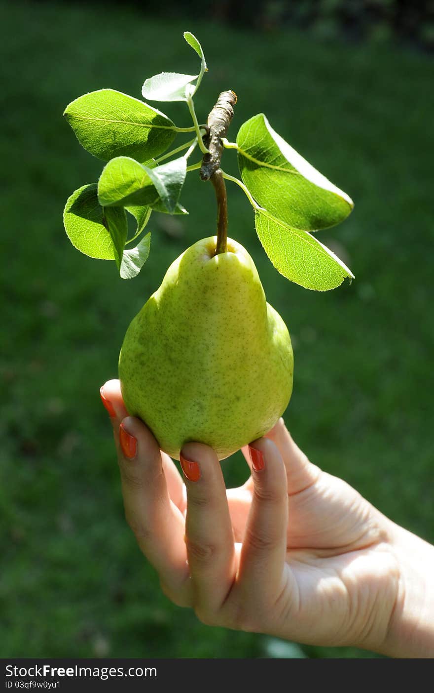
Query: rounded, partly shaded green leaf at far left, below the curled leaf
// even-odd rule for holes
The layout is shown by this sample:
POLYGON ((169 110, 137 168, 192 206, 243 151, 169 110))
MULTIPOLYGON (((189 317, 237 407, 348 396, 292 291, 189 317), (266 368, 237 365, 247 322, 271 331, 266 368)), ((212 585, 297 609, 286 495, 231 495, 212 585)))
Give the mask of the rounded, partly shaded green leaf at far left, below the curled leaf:
POLYGON ((123 234, 127 238, 124 209, 114 207, 107 222, 107 216, 98 202, 96 184, 84 185, 73 192, 66 202, 63 221, 71 243, 91 258, 115 259, 112 239, 112 233, 116 233, 114 229, 118 229, 120 238, 123 234))

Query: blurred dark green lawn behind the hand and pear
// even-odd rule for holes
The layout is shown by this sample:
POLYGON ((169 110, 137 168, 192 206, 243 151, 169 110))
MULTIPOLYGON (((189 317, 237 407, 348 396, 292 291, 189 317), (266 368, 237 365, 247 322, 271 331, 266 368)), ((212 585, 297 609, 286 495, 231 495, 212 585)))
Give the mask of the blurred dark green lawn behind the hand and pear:
MULTIPOLYGON (((141 98, 145 78, 209 73, 199 122, 238 95, 228 137, 265 112, 284 139, 349 193, 355 209, 320 240, 356 279, 325 294, 276 272, 242 191, 229 234, 253 256, 289 327, 285 413, 311 460, 384 514, 434 541, 433 60, 426 3, 304 0, 1 3, 2 329, 0 656, 356 658, 210 628, 171 604, 123 516, 99 387, 116 377, 125 330, 183 249, 213 234, 212 186, 188 175, 186 218, 153 214, 150 258, 132 281, 78 253, 62 209, 102 162, 62 118, 87 91, 141 98)), ((161 104, 190 125, 184 104, 161 104), (167 106, 167 107, 166 107, 167 106)), ((236 172, 235 152, 224 168, 236 172)), ((228 485, 244 482, 239 455, 228 485)))

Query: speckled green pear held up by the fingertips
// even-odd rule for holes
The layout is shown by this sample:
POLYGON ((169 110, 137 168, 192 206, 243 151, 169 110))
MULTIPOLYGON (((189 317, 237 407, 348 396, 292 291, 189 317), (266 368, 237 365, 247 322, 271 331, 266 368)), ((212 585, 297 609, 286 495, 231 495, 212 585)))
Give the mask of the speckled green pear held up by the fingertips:
POLYGON ((287 326, 246 249, 228 238, 215 255, 216 241, 199 240, 170 265, 120 351, 129 414, 175 459, 188 441, 232 455, 273 428, 291 397, 287 326))

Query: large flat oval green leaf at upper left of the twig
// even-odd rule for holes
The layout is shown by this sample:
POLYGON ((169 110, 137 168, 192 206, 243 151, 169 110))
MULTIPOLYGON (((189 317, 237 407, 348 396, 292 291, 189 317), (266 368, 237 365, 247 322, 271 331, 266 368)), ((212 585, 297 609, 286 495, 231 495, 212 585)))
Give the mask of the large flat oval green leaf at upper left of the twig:
POLYGON ((64 116, 84 149, 103 161, 118 156, 152 159, 177 134, 163 113, 114 89, 76 98, 66 106, 64 116))

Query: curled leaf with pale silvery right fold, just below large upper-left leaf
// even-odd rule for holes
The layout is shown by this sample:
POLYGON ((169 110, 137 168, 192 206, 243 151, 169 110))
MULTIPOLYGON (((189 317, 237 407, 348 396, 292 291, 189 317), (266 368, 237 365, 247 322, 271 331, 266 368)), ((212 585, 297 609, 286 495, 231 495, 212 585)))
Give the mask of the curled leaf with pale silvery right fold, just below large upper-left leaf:
POLYGON ((129 157, 111 159, 98 182, 98 198, 103 207, 149 205, 174 213, 186 179, 187 161, 179 157, 155 168, 129 157))

